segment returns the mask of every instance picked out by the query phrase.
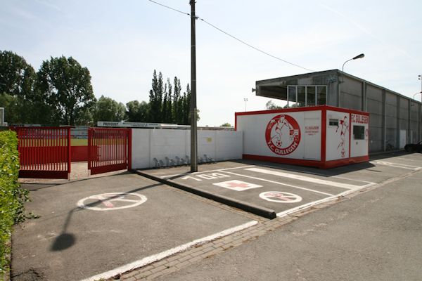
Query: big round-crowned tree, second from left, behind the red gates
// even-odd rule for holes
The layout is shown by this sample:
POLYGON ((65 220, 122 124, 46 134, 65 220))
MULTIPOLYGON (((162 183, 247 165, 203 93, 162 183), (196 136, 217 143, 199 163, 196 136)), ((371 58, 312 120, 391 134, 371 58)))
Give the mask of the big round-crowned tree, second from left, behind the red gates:
POLYGON ((45 60, 37 76, 37 91, 52 108, 55 124, 75 125, 96 102, 89 70, 72 57, 45 60))

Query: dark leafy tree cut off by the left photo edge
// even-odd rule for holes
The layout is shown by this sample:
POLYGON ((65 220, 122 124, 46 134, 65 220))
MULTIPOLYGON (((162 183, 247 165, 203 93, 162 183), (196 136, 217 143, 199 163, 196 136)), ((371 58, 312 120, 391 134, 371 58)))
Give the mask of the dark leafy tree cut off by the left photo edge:
POLYGON ((34 68, 11 51, 0 51, 0 107, 8 123, 39 122, 41 108, 34 98, 34 68))

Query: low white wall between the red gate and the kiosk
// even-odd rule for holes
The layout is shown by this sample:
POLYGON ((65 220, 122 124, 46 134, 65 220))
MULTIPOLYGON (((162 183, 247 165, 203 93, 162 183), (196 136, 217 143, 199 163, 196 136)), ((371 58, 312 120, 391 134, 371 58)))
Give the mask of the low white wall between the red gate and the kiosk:
MULTIPOLYGON (((241 131, 198 131, 198 157, 216 161, 242 159, 241 131)), ((191 157, 191 131, 171 129, 132 129, 132 169, 155 166, 154 158, 191 157)))

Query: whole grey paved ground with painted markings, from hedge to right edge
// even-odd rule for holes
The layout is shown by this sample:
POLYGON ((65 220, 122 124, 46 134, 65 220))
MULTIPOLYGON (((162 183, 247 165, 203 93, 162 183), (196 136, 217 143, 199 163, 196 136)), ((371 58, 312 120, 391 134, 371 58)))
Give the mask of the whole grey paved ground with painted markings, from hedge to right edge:
MULTIPOLYGON (((340 195, 307 209, 283 207, 287 213, 281 211, 268 220, 133 174, 56 186, 26 185, 33 199, 27 208, 41 218, 15 229, 13 280, 99 280, 114 275, 128 281, 377 280, 371 268, 380 271, 377 274, 385 277, 383 280, 397 277, 402 270, 409 272, 403 276, 410 279, 399 279, 416 280, 411 278, 421 273, 414 265, 422 257, 417 243, 422 214, 418 204, 421 154, 380 155, 369 164, 326 171, 240 164, 249 167, 234 171, 239 162, 202 165, 200 173, 188 175, 191 178, 187 180, 201 183, 198 189, 214 188, 215 193, 252 203, 259 202, 258 197, 248 190, 272 190, 270 183, 318 192, 336 192, 338 188, 350 192, 337 191, 340 195), (217 175, 209 173, 214 168, 217 175), (261 186, 239 192, 220 184, 227 180, 261 186), (390 245, 395 240, 397 247, 390 245), (354 273, 359 268, 362 276, 354 273)), ((184 169, 151 172, 160 178, 170 175, 174 181, 186 181, 182 179, 184 169)), ((245 186, 241 183, 235 188, 245 186)), ((306 204, 319 199, 300 192, 306 204)), ((281 205, 296 206, 292 201, 281 205)), ((276 205, 267 206, 279 208, 276 205)))

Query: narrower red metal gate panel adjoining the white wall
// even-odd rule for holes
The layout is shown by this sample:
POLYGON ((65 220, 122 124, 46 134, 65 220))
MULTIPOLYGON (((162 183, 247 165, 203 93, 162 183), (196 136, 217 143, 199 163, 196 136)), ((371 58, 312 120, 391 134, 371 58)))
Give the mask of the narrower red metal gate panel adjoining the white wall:
POLYGON ((132 169, 131 129, 90 128, 88 169, 91 175, 132 169))

